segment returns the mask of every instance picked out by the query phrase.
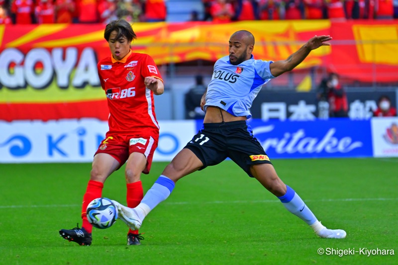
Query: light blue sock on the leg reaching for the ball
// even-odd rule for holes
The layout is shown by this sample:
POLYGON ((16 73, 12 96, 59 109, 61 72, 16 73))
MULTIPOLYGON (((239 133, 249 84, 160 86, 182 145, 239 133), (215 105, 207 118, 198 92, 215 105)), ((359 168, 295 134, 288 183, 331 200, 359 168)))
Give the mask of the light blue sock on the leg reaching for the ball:
POLYGON ((141 203, 148 205, 149 209, 152 210, 160 202, 167 199, 174 189, 174 182, 166 176, 160 175, 155 181, 152 188, 145 194, 141 203))

